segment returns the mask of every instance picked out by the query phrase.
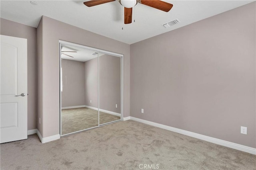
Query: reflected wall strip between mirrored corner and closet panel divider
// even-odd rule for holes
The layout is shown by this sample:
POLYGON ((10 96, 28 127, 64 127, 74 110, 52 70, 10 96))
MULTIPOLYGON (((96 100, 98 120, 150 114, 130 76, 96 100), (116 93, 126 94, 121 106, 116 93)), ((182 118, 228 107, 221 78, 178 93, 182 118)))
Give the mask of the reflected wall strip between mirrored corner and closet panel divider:
POLYGON ((84 62, 84 73, 85 105, 98 108, 98 57, 84 62))

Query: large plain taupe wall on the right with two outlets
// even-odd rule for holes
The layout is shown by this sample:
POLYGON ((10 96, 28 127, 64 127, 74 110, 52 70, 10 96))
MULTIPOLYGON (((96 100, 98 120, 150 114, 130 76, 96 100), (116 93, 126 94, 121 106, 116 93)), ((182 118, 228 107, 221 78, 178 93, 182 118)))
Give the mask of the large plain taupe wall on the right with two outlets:
POLYGON ((253 2, 132 44, 130 115, 255 148, 255 11, 253 2))

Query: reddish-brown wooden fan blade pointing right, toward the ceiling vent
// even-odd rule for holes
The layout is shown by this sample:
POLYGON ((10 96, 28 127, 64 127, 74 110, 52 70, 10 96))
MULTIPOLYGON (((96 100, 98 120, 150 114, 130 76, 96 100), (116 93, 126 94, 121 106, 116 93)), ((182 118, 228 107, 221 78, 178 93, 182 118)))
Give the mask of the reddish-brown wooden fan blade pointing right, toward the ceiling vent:
POLYGON ((160 0, 140 0, 138 2, 165 12, 170 11, 173 6, 172 4, 160 0))

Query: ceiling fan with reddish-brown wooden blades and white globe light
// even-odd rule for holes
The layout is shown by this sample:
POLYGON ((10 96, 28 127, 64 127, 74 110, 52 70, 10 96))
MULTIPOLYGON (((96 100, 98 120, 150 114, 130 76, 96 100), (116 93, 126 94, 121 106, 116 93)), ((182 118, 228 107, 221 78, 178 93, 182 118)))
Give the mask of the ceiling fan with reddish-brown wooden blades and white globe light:
MULTIPOLYGON (((105 4, 107 2, 112 2, 115 0, 90 0, 84 2, 84 5, 91 7, 100 4, 105 4)), ((132 23, 132 7, 136 6, 139 2, 140 4, 144 4, 146 6, 150 6, 156 8, 158 10, 162 10, 168 12, 172 9, 172 4, 161 0, 118 0, 122 6, 124 6, 124 23, 132 23)))

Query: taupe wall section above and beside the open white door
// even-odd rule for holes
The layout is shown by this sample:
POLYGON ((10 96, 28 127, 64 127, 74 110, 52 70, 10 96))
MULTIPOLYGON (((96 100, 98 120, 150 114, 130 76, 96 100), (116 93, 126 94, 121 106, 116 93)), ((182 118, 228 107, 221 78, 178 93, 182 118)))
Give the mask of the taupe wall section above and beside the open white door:
POLYGON ((0 19, 1 35, 26 38, 28 43, 28 130, 37 128, 36 28, 0 19))

